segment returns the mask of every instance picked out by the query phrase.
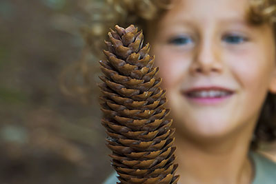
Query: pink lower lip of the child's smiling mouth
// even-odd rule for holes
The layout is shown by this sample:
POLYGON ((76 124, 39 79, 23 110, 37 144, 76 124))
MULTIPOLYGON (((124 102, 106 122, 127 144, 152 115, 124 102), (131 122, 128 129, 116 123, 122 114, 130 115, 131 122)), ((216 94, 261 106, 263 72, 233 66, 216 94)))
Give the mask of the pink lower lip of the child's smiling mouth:
POLYGON ((194 103, 200 104, 200 105, 215 105, 221 102, 226 101, 229 99, 233 94, 229 94, 227 96, 221 96, 221 97, 207 97, 207 98, 196 98, 196 97, 190 97, 185 95, 186 98, 194 103))

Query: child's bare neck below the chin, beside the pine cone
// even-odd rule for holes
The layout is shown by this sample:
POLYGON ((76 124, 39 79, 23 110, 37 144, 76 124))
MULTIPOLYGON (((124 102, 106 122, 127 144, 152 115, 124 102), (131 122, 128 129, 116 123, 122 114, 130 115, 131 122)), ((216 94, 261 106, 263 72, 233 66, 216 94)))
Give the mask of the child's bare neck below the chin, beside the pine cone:
POLYGON ((235 135, 204 143, 176 134, 179 184, 251 183, 254 173, 248 150, 253 130, 251 124, 235 135))

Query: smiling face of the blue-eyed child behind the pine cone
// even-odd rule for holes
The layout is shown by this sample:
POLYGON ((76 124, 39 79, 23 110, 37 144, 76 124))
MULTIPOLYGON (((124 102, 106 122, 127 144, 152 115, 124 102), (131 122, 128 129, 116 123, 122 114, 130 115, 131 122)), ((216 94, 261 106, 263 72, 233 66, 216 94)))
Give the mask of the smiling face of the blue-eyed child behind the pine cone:
POLYGON ((247 23, 248 0, 175 3, 150 30, 154 32, 150 43, 178 131, 201 138, 219 137, 255 123, 266 93, 275 89, 275 43, 270 25, 247 23), (205 97, 204 102, 204 96, 196 101, 185 93, 210 86, 226 88, 232 94, 215 100, 205 97))

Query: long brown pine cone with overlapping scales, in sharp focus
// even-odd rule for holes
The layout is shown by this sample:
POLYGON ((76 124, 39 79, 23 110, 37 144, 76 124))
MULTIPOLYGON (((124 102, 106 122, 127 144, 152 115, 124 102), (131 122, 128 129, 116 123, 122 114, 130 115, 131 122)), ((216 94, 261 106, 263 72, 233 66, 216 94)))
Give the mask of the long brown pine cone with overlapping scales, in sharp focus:
POLYGON ((143 47, 142 31, 134 25, 115 26, 108 32, 108 50, 103 50, 108 61, 100 61, 99 84, 103 111, 102 124, 108 134, 107 146, 112 150, 112 166, 121 183, 177 183, 175 138, 166 119, 170 110, 165 90, 159 88, 159 68, 153 67, 155 57, 143 47))

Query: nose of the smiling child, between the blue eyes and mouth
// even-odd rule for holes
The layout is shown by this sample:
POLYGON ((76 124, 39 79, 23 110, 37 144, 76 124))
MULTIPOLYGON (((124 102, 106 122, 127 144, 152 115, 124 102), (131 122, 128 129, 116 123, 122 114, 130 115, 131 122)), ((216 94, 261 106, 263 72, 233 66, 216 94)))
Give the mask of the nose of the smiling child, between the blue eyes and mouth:
POLYGON ((215 44, 215 41, 201 41, 193 55, 193 62, 190 65, 190 73, 192 75, 222 72, 221 50, 215 44))

